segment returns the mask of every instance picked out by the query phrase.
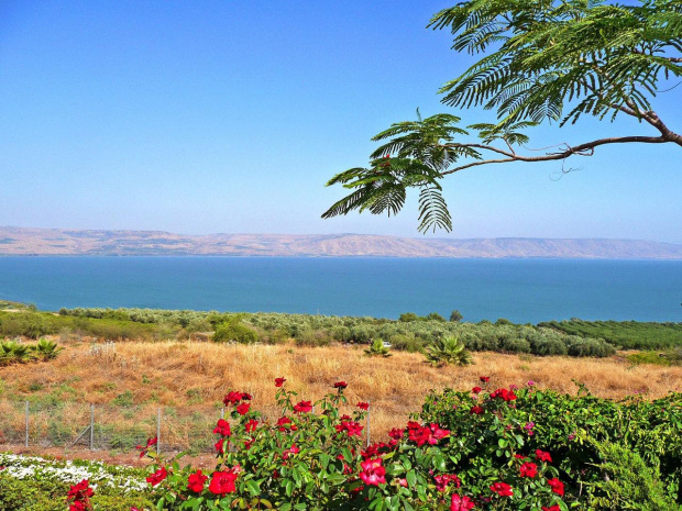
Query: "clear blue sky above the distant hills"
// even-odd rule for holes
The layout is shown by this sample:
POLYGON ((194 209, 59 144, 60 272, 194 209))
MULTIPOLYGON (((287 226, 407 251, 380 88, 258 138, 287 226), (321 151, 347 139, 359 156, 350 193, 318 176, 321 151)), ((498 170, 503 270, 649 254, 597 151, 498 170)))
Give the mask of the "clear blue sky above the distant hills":
MULTIPOLYGON (((392 122, 454 110, 437 91, 472 60, 426 25, 451 1, 0 3, 0 225, 186 234, 420 236, 397 218, 320 214, 392 122)), ((670 86, 676 82, 671 82, 670 86)), ((656 99, 682 131, 682 87, 656 99)), ((490 112, 459 113, 465 123, 490 112)), ((656 134, 623 119, 547 125, 531 146, 656 134)), ((605 147, 443 181, 446 237, 682 243, 682 148, 605 147)))

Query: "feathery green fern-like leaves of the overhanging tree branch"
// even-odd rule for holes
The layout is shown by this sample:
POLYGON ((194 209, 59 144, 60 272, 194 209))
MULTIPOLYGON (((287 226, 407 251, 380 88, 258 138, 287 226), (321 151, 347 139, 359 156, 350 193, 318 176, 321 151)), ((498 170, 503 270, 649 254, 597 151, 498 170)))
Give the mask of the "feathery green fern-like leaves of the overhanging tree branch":
POLYGON ((454 51, 481 56, 442 87, 443 103, 494 110, 495 122, 462 127, 459 115, 421 119, 417 112, 416 121, 392 124, 372 138, 383 144, 370 155, 369 167, 351 168, 327 182, 351 192, 322 218, 365 210, 395 215, 407 190, 415 188, 418 230, 450 231, 452 219, 440 184, 449 174, 498 163, 564 162, 573 155, 591 156, 608 144, 682 146, 682 134, 666 125, 652 107, 657 93, 682 76, 679 0, 639 0, 634 5, 606 0, 468 0, 437 13, 429 26, 450 30, 454 51), (583 115, 612 122, 628 115, 653 130, 564 142, 546 154, 522 153, 534 126, 561 126, 583 115))

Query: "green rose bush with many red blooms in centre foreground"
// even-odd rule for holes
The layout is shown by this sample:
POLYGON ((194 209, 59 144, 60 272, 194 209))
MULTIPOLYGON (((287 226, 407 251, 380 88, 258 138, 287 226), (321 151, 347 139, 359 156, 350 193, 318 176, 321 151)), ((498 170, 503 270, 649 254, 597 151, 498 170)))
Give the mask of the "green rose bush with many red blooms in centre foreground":
MULTIPOLYGON (((273 423, 255 407, 244 407, 251 396, 228 393, 231 422, 220 420, 213 430, 213 471, 180 468, 178 458, 155 459, 148 481, 163 491, 158 509, 568 510, 553 482, 561 481, 549 446, 496 444, 481 457, 468 456, 466 436, 428 413, 393 429, 388 442, 366 445, 362 424, 369 406, 360 402, 350 411, 348 384, 333 384, 336 391, 312 403, 284 381, 275 381, 282 416, 273 423)), ((518 400, 509 390, 495 396, 481 393, 483 415, 518 400)), ((146 455, 156 458, 148 449, 146 455)))

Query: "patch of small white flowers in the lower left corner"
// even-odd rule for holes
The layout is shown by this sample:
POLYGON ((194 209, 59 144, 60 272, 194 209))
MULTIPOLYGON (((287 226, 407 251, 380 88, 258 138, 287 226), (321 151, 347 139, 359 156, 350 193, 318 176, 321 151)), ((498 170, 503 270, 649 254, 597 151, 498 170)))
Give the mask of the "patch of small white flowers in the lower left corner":
POLYGON ((103 486, 123 492, 144 491, 150 488, 144 475, 133 467, 105 465, 101 462, 46 459, 9 453, 0 453, 0 475, 22 480, 52 479, 67 485, 88 479, 95 490, 103 486))

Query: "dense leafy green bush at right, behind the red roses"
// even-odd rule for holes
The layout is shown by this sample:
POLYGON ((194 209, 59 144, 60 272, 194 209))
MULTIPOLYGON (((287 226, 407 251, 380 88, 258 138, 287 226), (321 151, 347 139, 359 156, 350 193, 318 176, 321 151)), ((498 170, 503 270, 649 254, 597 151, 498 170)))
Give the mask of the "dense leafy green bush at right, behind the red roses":
MULTIPOLYGON (((484 379, 481 382, 490 385, 484 379)), ((603 503, 613 502, 613 492, 618 488, 623 493, 639 495, 641 500, 650 492, 651 484, 658 486, 659 479, 671 499, 682 501, 680 393, 652 401, 641 396, 613 401, 591 396, 584 386, 579 386, 578 396, 569 396, 537 390, 532 381, 522 389, 498 388, 488 392, 482 392, 480 387, 471 391, 446 389, 427 397, 419 418, 438 422, 458 438, 458 475, 463 479, 498 470, 524 456, 518 458, 524 462, 521 475, 537 480, 539 467, 551 464, 558 476, 547 482, 566 502, 585 506, 579 509, 616 509, 603 503), (606 468, 606 463, 625 459, 608 459, 604 455, 610 444, 640 457, 644 466, 652 470, 652 482, 624 479, 607 485, 606 481, 614 482, 618 473, 631 470, 628 466, 606 468), (534 466, 538 467, 536 476, 531 476, 534 466), (630 487, 626 488, 627 485, 630 487)), ((618 509, 661 509, 642 506, 618 509)))

